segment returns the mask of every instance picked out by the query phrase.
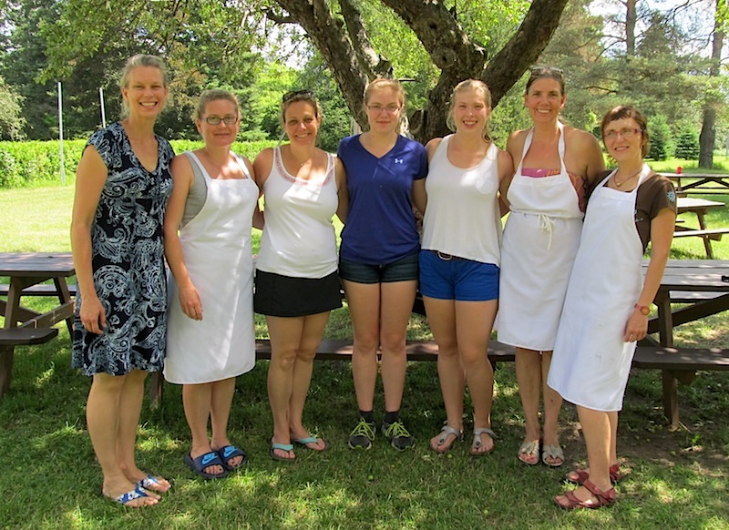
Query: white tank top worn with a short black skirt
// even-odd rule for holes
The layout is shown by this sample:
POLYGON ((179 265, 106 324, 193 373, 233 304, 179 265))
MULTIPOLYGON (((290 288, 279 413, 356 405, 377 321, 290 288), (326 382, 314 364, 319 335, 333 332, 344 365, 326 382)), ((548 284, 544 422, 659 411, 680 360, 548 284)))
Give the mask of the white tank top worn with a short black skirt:
POLYGON ((303 180, 286 171, 281 151, 274 148, 263 195, 265 224, 256 268, 296 278, 323 278, 334 272, 332 217, 339 199, 332 155, 327 154, 323 178, 303 180))

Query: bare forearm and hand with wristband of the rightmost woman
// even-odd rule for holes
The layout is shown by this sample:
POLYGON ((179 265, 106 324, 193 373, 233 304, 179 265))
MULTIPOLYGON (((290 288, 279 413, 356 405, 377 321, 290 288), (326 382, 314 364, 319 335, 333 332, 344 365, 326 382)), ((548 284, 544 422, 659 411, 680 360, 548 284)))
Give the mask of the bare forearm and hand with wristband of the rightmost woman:
MULTIPOLYGON (((655 293, 658 292, 658 288, 661 286, 663 270, 666 268, 666 261, 668 261, 671 250, 675 223, 676 214, 668 208, 659 211, 658 215, 651 221, 651 261, 648 263, 643 290, 641 296, 635 302, 636 305, 650 307, 655 298, 655 293)), ((645 337, 647 331, 648 317, 636 308, 632 311, 631 317, 625 325, 623 341, 640 341, 645 337)))

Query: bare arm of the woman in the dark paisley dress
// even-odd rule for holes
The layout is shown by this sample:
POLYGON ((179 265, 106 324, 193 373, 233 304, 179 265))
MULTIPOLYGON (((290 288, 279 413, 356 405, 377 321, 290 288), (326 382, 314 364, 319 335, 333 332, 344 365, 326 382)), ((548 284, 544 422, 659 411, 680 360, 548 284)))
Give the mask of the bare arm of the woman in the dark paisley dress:
POLYGON ((91 227, 97 213, 98 200, 107 181, 108 168, 93 146, 88 146, 78 162, 76 191, 71 217, 71 250, 78 290, 81 294, 79 316, 87 331, 101 333, 107 326, 107 317, 94 287, 91 264, 91 227))

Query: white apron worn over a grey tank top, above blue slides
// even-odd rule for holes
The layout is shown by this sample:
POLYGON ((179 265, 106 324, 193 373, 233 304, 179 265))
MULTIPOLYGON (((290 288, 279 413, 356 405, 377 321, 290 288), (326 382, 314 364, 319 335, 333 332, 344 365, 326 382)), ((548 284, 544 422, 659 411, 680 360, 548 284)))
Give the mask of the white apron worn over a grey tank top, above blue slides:
POLYGON ((200 292, 202 321, 180 308, 169 274, 167 358, 169 382, 215 382, 248 372, 255 364, 251 228, 258 187, 243 161, 246 178, 210 178, 194 154, 208 186, 205 203, 180 229, 190 280, 200 292))

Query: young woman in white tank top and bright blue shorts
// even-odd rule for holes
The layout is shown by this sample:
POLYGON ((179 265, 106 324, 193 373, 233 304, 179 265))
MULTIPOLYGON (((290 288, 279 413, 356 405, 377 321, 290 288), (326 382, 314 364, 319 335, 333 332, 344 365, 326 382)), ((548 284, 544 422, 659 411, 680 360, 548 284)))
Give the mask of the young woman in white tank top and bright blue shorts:
POLYGON ((491 93, 467 79, 453 89, 447 123, 455 134, 426 145, 427 206, 420 250, 420 292, 438 344, 438 375, 447 420, 430 441, 446 453, 463 436, 465 383, 474 409, 469 454, 494 448, 491 400, 494 372, 488 339, 498 305, 501 215, 499 184, 511 176, 511 157, 488 132, 491 93))

